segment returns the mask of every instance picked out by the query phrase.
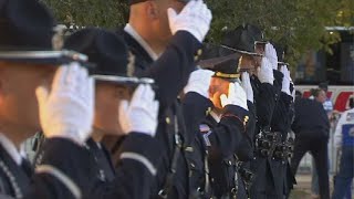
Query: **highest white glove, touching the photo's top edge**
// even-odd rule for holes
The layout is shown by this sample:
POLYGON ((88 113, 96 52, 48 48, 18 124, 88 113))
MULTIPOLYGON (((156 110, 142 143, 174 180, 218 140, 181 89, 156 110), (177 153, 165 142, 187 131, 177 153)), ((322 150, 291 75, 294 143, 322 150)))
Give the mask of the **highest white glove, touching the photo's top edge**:
POLYGON ((178 14, 173 8, 169 8, 167 13, 173 34, 178 31, 187 31, 199 42, 204 41, 209 31, 212 17, 211 11, 202 0, 189 1, 178 14))

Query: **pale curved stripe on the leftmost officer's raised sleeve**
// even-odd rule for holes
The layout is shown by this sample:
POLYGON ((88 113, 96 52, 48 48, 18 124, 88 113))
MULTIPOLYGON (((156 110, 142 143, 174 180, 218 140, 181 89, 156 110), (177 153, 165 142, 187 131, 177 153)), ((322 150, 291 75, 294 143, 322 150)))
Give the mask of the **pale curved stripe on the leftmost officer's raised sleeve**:
POLYGON ((76 184, 72 179, 70 179, 65 174, 63 174, 61 170, 56 169, 55 167, 50 165, 40 165, 35 168, 35 172, 49 174, 54 176, 73 193, 75 198, 79 199, 82 197, 81 190, 76 186, 76 184))

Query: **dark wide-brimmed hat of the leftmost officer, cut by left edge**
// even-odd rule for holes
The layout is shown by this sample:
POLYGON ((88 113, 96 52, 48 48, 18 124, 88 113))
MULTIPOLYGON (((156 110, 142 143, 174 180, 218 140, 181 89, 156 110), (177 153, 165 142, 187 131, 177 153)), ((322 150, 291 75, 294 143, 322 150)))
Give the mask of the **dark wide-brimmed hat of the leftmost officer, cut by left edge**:
POLYGON ((86 59, 55 49, 62 42, 54 31, 55 21, 39 1, 0 0, 0 10, 1 61, 60 65, 86 59))

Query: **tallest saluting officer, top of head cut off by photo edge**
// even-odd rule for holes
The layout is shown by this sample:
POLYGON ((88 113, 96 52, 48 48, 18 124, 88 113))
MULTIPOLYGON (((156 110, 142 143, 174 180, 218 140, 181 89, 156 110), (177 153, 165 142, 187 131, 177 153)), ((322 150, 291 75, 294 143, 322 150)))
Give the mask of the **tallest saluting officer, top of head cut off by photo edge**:
POLYGON ((156 138, 164 148, 163 163, 157 169, 152 198, 188 198, 191 165, 186 163, 184 154, 190 153, 194 136, 188 137, 184 132, 176 98, 201 54, 211 13, 201 0, 129 2, 129 23, 123 34, 135 56, 134 74, 155 81, 160 103, 156 138))

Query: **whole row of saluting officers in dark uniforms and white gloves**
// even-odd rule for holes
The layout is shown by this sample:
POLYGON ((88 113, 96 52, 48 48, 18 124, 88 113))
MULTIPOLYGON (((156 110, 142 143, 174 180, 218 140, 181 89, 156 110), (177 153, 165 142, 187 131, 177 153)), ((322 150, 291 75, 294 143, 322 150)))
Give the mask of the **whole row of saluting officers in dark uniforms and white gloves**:
POLYGON ((288 197, 283 52, 250 24, 202 45, 202 0, 129 7, 124 30, 63 40, 37 0, 0 0, 0 198, 288 197))

